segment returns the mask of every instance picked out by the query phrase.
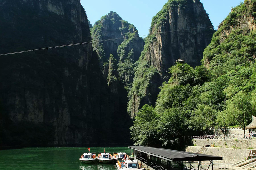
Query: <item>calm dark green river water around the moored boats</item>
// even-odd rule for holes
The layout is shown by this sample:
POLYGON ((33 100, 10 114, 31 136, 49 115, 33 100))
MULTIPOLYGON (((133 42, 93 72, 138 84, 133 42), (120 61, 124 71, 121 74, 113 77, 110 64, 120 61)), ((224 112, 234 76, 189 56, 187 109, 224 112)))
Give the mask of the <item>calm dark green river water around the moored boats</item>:
MULTIPOLYGON (((105 148, 106 152, 126 152, 128 147, 105 148)), ((92 148, 101 153, 104 148, 92 148)), ((115 164, 85 164, 79 161, 87 148, 24 148, 0 150, 0 170, 117 170, 115 164)))

